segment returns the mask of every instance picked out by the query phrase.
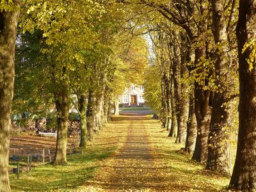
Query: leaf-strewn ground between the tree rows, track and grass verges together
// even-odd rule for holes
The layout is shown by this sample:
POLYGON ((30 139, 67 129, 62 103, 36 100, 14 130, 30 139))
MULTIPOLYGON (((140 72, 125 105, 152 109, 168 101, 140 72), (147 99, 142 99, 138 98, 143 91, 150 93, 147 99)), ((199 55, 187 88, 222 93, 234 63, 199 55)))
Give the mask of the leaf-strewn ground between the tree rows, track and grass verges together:
MULTIPOLYGON (((225 191, 229 178, 204 170, 180 152, 149 116, 114 116, 85 154, 68 156, 68 166, 38 166, 13 191, 225 191)), ((35 141, 36 142, 36 141, 35 141)))

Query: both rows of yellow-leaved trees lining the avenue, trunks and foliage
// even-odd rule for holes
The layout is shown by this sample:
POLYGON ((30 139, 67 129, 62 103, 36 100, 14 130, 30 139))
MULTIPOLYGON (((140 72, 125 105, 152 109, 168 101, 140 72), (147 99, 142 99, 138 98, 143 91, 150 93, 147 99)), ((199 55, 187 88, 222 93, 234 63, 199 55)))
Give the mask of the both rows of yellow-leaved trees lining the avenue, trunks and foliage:
MULTIPOLYGON (((0 189, 9 191, 20 2, 1 0, 0 6, 0 189)), ((239 132, 230 187, 255 188, 255 1, 27 0, 22 1, 21 10, 15 106, 41 113, 54 104, 58 118, 54 163, 67 163, 69 106, 74 103, 79 111, 83 148, 87 138, 92 140, 93 132, 106 122, 109 100, 118 95, 115 87, 123 87, 120 76, 128 74, 128 78, 129 71, 138 70, 127 66, 145 61, 141 55, 147 51, 135 54, 138 60, 127 58, 127 52, 132 47, 129 42, 138 42, 137 35, 147 33, 154 54, 150 52, 152 65, 146 72, 146 99, 161 113, 170 136, 177 143, 186 142, 193 159, 225 174, 229 174, 228 127, 236 116, 231 111, 239 79, 239 132)))

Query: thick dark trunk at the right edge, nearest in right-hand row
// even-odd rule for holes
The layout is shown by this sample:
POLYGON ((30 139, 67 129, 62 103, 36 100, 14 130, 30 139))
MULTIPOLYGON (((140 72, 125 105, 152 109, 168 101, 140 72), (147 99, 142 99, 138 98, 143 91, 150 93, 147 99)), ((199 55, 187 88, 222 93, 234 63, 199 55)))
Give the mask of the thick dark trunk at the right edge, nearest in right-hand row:
MULTIPOLYGON (((254 191, 256 188, 256 61, 246 62, 255 51, 256 2, 239 2, 236 28, 239 58, 239 132, 237 155, 230 180, 230 188, 254 191), (244 44, 253 42, 244 52, 244 44)), ((250 60, 250 59, 249 59, 250 60)))

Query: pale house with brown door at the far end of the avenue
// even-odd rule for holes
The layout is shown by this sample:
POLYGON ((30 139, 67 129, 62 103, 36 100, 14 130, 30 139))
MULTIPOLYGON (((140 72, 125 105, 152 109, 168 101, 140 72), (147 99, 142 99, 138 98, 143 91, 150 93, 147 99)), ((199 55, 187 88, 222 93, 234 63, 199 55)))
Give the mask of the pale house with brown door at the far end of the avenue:
POLYGON ((139 85, 132 85, 125 88, 122 95, 119 96, 118 101, 120 106, 144 106, 144 87, 139 85))

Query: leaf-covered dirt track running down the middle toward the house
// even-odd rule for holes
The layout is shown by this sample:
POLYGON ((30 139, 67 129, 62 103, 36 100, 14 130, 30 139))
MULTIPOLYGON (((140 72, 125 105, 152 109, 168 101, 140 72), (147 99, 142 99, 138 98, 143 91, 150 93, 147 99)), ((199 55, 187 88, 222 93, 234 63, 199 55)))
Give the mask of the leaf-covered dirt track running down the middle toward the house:
POLYGON ((122 148, 106 160, 86 189, 96 191, 157 191, 163 179, 154 166, 149 138, 143 120, 145 116, 131 116, 127 137, 122 148))

